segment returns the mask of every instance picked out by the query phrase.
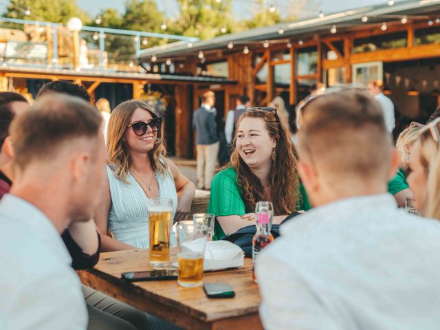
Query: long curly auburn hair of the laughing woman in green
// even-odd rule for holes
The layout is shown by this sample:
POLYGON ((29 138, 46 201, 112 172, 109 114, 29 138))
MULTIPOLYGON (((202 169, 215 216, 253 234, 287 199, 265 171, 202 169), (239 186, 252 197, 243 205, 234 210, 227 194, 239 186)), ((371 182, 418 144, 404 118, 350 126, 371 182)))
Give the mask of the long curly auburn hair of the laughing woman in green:
MULTIPOLYGON (((294 148, 287 133, 286 127, 281 124, 275 111, 250 110, 241 115, 237 127, 245 118, 261 118, 265 122, 270 137, 276 141, 274 154, 272 155, 272 167, 270 168, 270 188, 272 192, 272 203, 274 204, 274 215, 290 214, 296 210, 299 197, 299 180, 296 171, 296 157, 294 148)), ((237 132, 239 129, 236 130, 237 132)), ((236 145, 234 137, 234 146, 236 145)), ((246 212, 254 212, 257 201, 262 201, 264 189, 259 180, 249 166, 239 155, 239 151, 234 149, 231 155, 230 164, 236 171, 237 184, 241 187, 243 201, 246 212)))

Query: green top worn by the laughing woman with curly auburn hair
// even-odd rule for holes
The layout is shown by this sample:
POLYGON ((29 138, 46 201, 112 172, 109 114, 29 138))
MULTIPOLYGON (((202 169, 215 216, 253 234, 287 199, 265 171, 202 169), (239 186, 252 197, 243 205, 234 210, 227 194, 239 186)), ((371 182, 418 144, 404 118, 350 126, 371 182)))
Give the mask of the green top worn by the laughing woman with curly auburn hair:
MULTIPOLYGON (((228 217, 229 215, 242 216, 246 214, 245 203, 241 198, 240 187, 236 182, 236 172, 234 168, 229 167, 217 173, 212 179, 211 196, 209 199, 208 213, 215 217, 228 217)), ((311 208, 305 189, 300 185, 301 200, 298 201, 298 210, 309 210, 311 208)), ((214 240, 223 239, 226 236, 220 223, 215 220, 214 240)))

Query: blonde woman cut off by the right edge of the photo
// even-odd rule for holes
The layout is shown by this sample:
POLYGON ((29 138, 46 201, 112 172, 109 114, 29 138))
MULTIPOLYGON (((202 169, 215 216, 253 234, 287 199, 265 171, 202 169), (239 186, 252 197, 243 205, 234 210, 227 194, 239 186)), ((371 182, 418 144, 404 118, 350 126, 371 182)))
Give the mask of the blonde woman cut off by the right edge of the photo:
POLYGON ((424 217, 440 220, 440 118, 419 131, 410 155, 408 184, 414 206, 424 217))

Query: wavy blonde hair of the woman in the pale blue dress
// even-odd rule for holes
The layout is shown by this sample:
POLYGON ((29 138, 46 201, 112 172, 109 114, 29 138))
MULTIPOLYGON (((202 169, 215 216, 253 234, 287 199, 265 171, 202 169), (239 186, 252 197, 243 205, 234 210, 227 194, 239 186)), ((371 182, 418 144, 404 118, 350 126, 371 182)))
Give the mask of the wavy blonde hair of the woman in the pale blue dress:
MULTIPOLYGON (((129 100, 122 102, 113 109, 109 127, 107 129, 107 150, 109 152, 109 165, 114 166, 115 175, 118 179, 126 182, 126 175, 131 168, 132 160, 129 148, 124 142, 124 135, 127 126, 131 122, 131 117, 136 109, 144 109, 151 113, 153 118, 160 118, 155 110, 145 102, 140 100, 129 100)), ((154 142, 153 149, 148 152, 151 166, 158 170, 162 175, 166 172, 164 158, 166 156, 166 146, 164 142, 164 123, 157 132, 157 140, 154 142)))

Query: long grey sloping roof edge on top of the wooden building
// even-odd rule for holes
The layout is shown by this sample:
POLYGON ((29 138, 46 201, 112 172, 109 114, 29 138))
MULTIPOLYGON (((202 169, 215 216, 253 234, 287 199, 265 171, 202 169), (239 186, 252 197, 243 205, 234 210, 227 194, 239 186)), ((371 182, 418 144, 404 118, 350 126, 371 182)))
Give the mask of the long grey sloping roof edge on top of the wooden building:
MULTIPOLYGON (((148 62, 151 56, 155 55, 158 59, 172 58, 175 56, 195 55, 200 50, 217 50, 224 49, 228 43, 239 42, 244 45, 249 41, 265 41, 274 39, 288 39, 294 37, 304 37, 310 34, 320 32, 328 32, 333 24, 338 25, 338 30, 347 30, 353 26, 362 24, 380 23, 383 21, 391 21, 395 18, 386 17, 392 15, 428 15, 433 12, 439 12, 440 0, 410 0, 395 3, 395 5, 375 5, 354 10, 345 10, 333 14, 326 14, 324 17, 313 17, 300 21, 283 22, 270 27, 256 28, 245 32, 226 34, 213 39, 198 41, 192 43, 192 47, 188 47, 188 43, 168 44, 164 46, 152 47, 142 50, 140 61, 148 62), (369 17, 368 23, 362 23, 363 16, 369 17), (279 34, 278 30, 282 28, 283 34, 279 34)), ((232 52, 233 50, 231 50, 232 52)))

